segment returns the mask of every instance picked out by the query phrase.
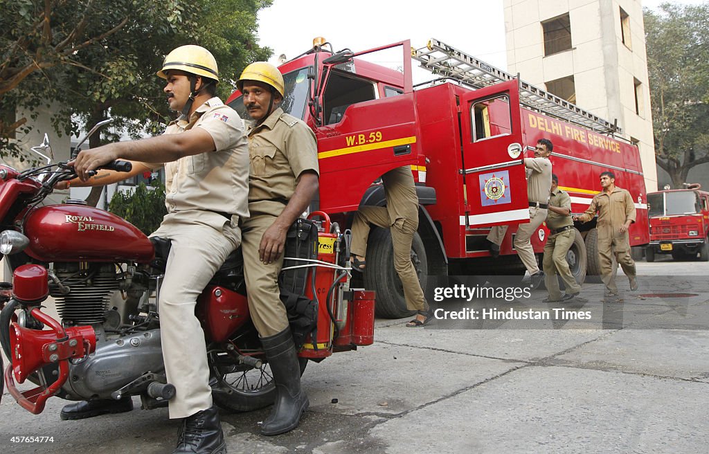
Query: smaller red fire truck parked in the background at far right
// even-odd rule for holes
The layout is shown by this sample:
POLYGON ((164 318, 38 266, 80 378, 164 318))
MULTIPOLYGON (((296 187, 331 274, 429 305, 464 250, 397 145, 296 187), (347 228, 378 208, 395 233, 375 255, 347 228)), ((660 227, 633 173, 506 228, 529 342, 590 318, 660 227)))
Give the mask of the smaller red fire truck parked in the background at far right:
POLYGON ((675 260, 709 261, 709 193, 699 191, 698 183, 686 189, 647 194, 650 244, 645 259, 655 254, 672 254, 675 260))

